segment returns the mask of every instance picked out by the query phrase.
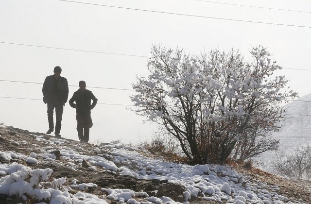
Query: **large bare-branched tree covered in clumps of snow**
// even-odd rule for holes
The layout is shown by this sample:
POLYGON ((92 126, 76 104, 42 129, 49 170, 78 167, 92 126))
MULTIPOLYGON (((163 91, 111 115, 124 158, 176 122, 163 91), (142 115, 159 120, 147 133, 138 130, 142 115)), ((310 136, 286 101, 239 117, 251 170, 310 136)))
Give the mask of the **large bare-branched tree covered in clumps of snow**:
POLYGON ((276 123, 284 112, 279 104, 297 95, 285 89, 284 76, 272 78, 281 67, 267 49, 259 46, 250 53, 251 64, 239 51, 190 56, 154 46, 149 76, 133 84, 135 111, 176 137, 195 163, 224 163, 234 149, 245 154, 261 141, 259 136, 280 130, 276 123))

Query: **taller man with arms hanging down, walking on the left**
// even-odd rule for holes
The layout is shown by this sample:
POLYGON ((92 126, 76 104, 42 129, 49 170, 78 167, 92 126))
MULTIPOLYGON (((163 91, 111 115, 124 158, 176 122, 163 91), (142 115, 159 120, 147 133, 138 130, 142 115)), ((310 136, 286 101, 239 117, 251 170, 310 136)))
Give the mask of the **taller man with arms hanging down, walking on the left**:
POLYGON ((54 131, 53 113, 55 108, 55 137, 61 137, 59 133, 62 127, 63 110, 69 93, 67 79, 60 76, 61 72, 62 68, 56 66, 54 68, 54 74, 45 78, 42 87, 43 102, 48 103, 49 130, 47 134, 51 134, 54 131))

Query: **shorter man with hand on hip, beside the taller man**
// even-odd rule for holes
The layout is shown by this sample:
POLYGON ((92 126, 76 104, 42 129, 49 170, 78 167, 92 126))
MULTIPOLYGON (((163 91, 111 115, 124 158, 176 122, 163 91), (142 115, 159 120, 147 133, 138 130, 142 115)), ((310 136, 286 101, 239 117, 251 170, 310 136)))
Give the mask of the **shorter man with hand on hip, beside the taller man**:
POLYGON ((79 90, 74 92, 69 100, 69 105, 76 109, 77 131, 80 142, 87 143, 89 139, 89 129, 93 126, 91 110, 95 107, 97 98, 91 91, 86 89, 85 81, 80 81, 79 87, 79 90), (91 100, 93 100, 92 104, 91 100))

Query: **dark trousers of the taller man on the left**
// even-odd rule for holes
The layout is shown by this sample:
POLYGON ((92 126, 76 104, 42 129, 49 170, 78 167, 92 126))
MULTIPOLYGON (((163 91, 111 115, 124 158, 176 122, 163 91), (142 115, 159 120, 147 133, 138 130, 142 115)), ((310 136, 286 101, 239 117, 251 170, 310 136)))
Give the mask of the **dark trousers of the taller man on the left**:
POLYGON ((48 121, 49 129, 54 130, 54 119, 53 113, 55 108, 56 124, 55 124, 55 134, 60 133, 62 127, 62 116, 64 111, 64 105, 59 102, 48 102, 48 121))

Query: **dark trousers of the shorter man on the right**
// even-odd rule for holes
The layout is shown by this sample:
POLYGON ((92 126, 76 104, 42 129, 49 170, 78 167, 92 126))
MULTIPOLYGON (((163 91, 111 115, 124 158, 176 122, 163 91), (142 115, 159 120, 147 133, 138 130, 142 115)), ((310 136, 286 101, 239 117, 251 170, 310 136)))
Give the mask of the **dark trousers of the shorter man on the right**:
POLYGON ((79 139, 83 142, 88 142, 89 129, 93 126, 91 114, 77 113, 76 119, 79 139))

